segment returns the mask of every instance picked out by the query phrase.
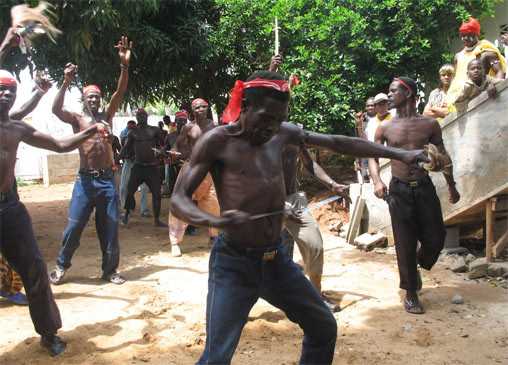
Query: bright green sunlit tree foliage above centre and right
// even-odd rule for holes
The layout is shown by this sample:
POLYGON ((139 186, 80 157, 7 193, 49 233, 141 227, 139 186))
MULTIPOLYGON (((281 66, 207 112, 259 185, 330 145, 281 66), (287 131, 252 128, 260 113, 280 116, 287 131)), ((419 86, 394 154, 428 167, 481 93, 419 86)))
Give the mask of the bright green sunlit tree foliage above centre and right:
POLYGON ((277 16, 281 71, 302 80, 290 118, 311 130, 347 133, 352 110, 386 90, 394 76, 434 80, 441 64, 452 59, 460 21, 491 14, 496 2, 218 0, 222 12, 211 43, 229 50, 223 54, 244 78, 271 57, 277 16))

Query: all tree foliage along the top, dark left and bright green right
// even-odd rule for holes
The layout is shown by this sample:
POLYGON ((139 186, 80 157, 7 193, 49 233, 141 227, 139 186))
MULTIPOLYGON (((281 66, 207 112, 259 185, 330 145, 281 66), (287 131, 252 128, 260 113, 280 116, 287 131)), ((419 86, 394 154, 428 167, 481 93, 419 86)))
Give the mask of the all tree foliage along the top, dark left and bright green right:
MULTIPOLYGON (((0 30, 9 24, 0 4, 0 30)), ((491 15, 499 0, 51 0, 57 44, 41 39, 34 62, 61 80, 67 62, 84 83, 111 93, 119 73, 113 45, 135 44, 128 98, 188 106, 204 97, 220 113, 234 81, 268 68, 273 20, 280 25, 281 72, 302 80, 290 118, 320 132, 351 132, 351 113, 397 75, 433 81, 470 14, 491 15)), ((36 3, 36 0, 30 1, 36 3)), ((13 57, 13 59, 18 59, 13 57)), ((22 60, 11 64, 23 66, 22 60)))

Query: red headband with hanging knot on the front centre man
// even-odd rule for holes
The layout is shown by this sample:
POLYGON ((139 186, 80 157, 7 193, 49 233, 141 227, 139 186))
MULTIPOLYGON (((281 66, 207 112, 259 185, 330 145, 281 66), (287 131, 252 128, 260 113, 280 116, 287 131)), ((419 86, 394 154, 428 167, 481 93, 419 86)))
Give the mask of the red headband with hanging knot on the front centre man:
POLYGON ((254 79, 252 81, 243 82, 237 80, 235 87, 231 90, 231 97, 229 103, 222 113, 222 123, 229 124, 236 122, 240 117, 240 111, 242 109, 243 93, 245 89, 262 87, 267 89, 277 90, 281 93, 289 92, 289 84, 286 80, 265 80, 261 78, 254 79))

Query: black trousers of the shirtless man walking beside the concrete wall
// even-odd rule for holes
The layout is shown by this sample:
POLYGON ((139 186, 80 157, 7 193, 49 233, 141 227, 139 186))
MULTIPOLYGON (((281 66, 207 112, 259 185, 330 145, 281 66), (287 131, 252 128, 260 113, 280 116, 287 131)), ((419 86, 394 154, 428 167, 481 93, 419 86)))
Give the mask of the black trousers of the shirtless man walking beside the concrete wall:
POLYGON ((400 288, 416 290, 417 264, 430 270, 443 249, 446 230, 441 204, 429 177, 411 184, 394 177, 389 191, 400 288))

